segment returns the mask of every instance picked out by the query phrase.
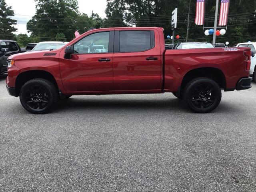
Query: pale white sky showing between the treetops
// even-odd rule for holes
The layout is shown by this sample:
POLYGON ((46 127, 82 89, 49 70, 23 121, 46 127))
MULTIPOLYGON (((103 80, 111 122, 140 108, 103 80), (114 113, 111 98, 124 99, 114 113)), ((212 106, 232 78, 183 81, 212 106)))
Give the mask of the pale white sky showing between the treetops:
MULTIPOLYGON (((26 30, 26 22, 36 13, 36 2, 34 0, 6 0, 8 6, 12 6, 18 24, 15 26, 18 30, 15 34, 28 34, 26 30), (21 24, 23 23, 23 24, 21 24)), ((106 0, 78 0, 79 11, 88 15, 98 13, 100 17, 106 17, 106 0)), ((29 34, 28 34, 29 35, 29 34)))

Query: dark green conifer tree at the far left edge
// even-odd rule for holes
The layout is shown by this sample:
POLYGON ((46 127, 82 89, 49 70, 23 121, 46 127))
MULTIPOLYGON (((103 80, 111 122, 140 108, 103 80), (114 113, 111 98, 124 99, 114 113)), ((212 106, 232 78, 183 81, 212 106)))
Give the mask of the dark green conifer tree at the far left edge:
POLYGON ((14 12, 11 6, 7 6, 5 0, 0 0, 0 39, 14 39, 12 32, 17 31, 14 28, 17 20, 11 19, 10 16, 14 16, 14 12))

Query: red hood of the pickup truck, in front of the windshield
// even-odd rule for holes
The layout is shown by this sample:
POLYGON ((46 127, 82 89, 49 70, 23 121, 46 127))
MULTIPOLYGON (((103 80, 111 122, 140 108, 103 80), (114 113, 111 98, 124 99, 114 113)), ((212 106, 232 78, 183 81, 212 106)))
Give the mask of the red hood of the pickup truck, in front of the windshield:
POLYGON ((44 58, 44 57, 56 57, 58 56, 58 53, 60 52, 61 49, 58 50, 43 50, 43 51, 28 51, 24 53, 18 53, 11 55, 8 57, 8 60, 24 60, 24 59, 34 59, 34 58, 44 58))

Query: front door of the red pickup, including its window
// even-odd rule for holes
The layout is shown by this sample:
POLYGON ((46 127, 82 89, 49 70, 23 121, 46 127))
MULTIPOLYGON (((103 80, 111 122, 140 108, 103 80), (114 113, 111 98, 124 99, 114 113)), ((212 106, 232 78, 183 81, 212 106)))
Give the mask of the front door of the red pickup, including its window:
POLYGON ((114 31, 89 34, 74 43, 70 59, 60 54, 60 74, 66 92, 113 90, 114 31), (98 47, 106 49, 99 51, 98 47))

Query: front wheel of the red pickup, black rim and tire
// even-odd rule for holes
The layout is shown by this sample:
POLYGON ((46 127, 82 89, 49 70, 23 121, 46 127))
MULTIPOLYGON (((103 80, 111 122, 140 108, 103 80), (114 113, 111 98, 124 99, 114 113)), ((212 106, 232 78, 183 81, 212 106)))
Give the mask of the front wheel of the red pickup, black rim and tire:
POLYGON ((57 103, 58 91, 49 80, 36 78, 26 82, 20 90, 20 102, 30 113, 45 114, 57 103))

